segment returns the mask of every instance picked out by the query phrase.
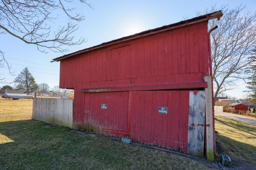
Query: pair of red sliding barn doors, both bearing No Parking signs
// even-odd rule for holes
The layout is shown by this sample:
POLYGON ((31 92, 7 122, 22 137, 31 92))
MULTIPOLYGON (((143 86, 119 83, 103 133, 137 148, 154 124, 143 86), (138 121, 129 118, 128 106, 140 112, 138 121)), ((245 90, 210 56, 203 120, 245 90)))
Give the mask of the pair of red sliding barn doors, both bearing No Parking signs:
POLYGON ((187 152, 188 90, 83 94, 82 130, 187 152), (168 113, 158 113, 158 107, 167 107, 168 113))

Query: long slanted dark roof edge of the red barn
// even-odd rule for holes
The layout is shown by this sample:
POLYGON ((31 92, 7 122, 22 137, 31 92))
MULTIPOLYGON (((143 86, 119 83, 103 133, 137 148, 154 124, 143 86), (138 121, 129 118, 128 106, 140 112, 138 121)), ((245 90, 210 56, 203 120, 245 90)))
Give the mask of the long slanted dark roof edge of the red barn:
POLYGON ((172 24, 167 25, 167 26, 162 26, 162 27, 158 27, 158 28, 155 28, 155 29, 143 31, 143 32, 140 32, 140 33, 137 33, 137 34, 133 34, 133 35, 130 35, 130 36, 118 38, 118 39, 115 39, 115 40, 112 40, 112 41, 103 42, 101 44, 98 44, 98 45, 95 45, 95 46, 92 46, 92 47, 89 47, 89 48, 85 48, 83 50, 76 51, 74 53, 70 53, 70 54, 67 54, 67 55, 63 55, 63 56, 54 58, 54 59, 52 59, 51 62, 60 61, 62 59, 72 57, 72 56, 75 56, 75 55, 80 54, 80 53, 96 50, 98 48, 109 46, 109 45, 116 44, 116 43, 119 43, 119 42, 124 42, 124 41, 128 41, 128 40, 131 40, 131 39, 135 39, 135 38, 139 38, 139 37, 143 37, 143 36, 148 36, 148 35, 156 34, 156 33, 167 31, 167 30, 172 30, 172 29, 184 27, 184 26, 191 25, 191 24, 194 24, 194 23, 203 22, 203 21, 206 21, 206 20, 209 20, 209 19, 214 19, 214 18, 220 19, 220 17, 222 17, 222 15, 223 15, 223 13, 221 11, 208 13, 208 14, 201 15, 201 16, 198 16, 198 17, 195 17, 195 18, 191 18, 191 19, 180 21, 180 22, 172 23, 172 24))

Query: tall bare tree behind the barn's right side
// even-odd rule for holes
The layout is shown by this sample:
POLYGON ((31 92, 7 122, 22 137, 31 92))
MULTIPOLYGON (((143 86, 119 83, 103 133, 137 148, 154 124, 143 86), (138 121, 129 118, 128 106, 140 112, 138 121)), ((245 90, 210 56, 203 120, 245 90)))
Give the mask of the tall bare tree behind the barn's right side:
MULTIPOLYGON (((244 8, 223 6, 223 17, 209 20, 209 29, 218 26, 210 37, 215 100, 218 94, 236 87, 237 80, 248 78, 249 56, 256 44, 256 12, 244 12, 244 8)), ((217 11, 216 6, 205 12, 211 11, 217 11)))

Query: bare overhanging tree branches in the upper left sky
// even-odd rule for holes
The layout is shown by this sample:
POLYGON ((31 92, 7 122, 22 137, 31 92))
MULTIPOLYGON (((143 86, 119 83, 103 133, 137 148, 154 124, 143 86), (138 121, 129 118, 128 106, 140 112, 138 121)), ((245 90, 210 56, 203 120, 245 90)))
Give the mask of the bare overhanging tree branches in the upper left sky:
MULTIPOLYGON (((91 5, 86 0, 80 3, 91 5)), ((84 17, 74 14, 73 0, 1 0, 0 1, 0 35, 9 34, 27 44, 34 44, 41 52, 47 49, 53 52, 67 52, 67 46, 81 44, 84 38, 75 39, 72 35, 78 26, 73 21, 81 21, 84 17), (51 25, 57 19, 58 12, 64 13, 68 22, 52 30, 51 25)), ((0 50, 0 66, 9 65, 0 50)), ((9 68, 10 72, 10 68, 9 68)), ((11 73, 11 72, 10 72, 11 73)))

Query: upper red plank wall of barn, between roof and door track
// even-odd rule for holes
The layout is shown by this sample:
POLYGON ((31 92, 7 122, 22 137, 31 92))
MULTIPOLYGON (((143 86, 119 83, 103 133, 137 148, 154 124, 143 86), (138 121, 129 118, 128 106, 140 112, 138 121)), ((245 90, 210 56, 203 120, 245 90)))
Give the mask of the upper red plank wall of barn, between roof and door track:
POLYGON ((60 87, 203 82, 207 21, 60 61, 60 87))

